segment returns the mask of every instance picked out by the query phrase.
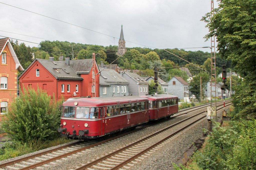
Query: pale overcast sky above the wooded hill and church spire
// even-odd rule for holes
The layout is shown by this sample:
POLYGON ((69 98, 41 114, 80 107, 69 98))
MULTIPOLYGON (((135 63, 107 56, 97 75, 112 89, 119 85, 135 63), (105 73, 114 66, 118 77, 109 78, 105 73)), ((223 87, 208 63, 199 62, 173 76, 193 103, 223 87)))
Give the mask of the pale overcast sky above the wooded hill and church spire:
MULTIPOLYGON (((208 29, 205 28, 206 23, 200 21, 202 16, 211 10, 210 0, 0 0, 0 2, 2 13, 0 36, 33 42, 24 42, 30 47, 37 47, 38 44, 34 43, 40 43, 44 39, 103 46, 118 45, 121 25, 123 25, 126 47, 191 48, 186 50, 210 52, 210 48, 192 48, 211 45, 210 41, 205 42, 203 38, 208 33, 208 29)), ((217 7, 216 0, 214 7, 217 7)))

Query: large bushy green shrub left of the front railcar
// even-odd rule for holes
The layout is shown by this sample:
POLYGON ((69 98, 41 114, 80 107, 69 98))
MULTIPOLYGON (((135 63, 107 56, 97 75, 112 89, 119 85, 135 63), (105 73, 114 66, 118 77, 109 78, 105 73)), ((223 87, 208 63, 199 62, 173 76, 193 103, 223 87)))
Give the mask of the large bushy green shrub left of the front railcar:
POLYGON ((1 124, 8 137, 21 143, 55 138, 60 112, 59 103, 54 99, 39 88, 37 91, 24 89, 9 107, 1 124))

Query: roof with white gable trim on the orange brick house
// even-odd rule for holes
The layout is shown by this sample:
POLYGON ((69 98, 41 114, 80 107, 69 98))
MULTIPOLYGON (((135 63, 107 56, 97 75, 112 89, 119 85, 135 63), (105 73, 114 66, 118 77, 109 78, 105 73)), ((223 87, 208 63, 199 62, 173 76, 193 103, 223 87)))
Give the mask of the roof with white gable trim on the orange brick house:
POLYGON ((16 70, 19 69, 20 71, 23 71, 24 68, 23 68, 22 65, 20 64, 19 59, 18 59, 18 57, 17 57, 17 55, 16 55, 16 53, 15 53, 15 51, 14 51, 14 49, 13 49, 13 46, 12 46, 12 44, 11 44, 9 38, 1 38, 1 39, 0 39, 0 51, 1 51, 1 52, 0 52, 0 55, 2 54, 2 52, 3 52, 3 50, 4 50, 4 48, 5 48, 6 45, 8 46, 8 48, 9 48, 9 50, 10 50, 10 54, 11 54, 11 56, 12 56, 13 59, 14 59, 14 62, 15 62, 15 69, 16 69, 16 70))

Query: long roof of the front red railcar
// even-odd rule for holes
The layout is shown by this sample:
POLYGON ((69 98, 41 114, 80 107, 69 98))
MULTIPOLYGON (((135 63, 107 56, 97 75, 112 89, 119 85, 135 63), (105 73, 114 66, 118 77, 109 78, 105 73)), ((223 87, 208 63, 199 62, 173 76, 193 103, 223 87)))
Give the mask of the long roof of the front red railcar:
POLYGON ((65 101, 63 106, 87 106, 87 107, 99 107, 99 106, 110 106, 116 104, 127 104, 135 102, 148 101, 147 98, 141 96, 117 96, 117 97, 94 97, 94 98, 70 98, 65 101))

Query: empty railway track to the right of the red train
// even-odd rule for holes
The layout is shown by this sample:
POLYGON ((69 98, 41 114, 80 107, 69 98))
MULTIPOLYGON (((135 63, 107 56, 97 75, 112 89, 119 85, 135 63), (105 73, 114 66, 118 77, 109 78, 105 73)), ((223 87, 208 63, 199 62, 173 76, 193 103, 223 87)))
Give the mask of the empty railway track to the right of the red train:
MULTIPOLYGON (((217 110, 222 108, 223 107, 220 107, 217 110)), ((131 143, 130 145, 82 165, 75 170, 129 169, 137 162, 142 161, 147 155, 154 153, 159 147, 163 147, 165 143, 168 143, 180 134, 185 133, 185 131, 203 119, 205 119, 205 111, 161 129, 158 132, 131 143)))

